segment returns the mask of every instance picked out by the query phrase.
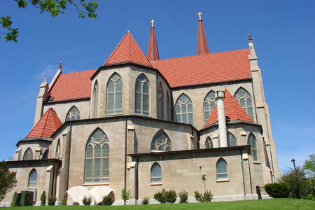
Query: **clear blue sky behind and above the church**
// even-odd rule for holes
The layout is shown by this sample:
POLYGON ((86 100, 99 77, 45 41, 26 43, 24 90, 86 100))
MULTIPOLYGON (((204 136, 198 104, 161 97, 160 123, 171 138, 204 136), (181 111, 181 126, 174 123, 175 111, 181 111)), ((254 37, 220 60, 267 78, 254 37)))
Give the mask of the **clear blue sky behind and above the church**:
POLYGON ((63 73, 97 69, 127 30, 146 54, 152 18, 160 59, 195 55, 199 11, 210 52, 248 48, 252 35, 280 170, 314 153, 315 1, 98 2, 99 17, 82 20, 71 6, 51 18, 0 0, 0 16, 20 29, 18 43, 0 40, 1 160, 13 157, 31 130, 39 85, 59 62, 63 73))

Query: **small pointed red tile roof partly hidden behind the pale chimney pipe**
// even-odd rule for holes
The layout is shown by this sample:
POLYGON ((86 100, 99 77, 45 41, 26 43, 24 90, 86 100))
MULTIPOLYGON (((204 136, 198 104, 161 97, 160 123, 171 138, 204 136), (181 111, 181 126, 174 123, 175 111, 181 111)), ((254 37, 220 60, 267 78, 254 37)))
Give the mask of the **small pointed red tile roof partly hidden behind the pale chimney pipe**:
MULTIPOLYGON (((248 122, 253 122, 250 116, 246 113, 246 111, 239 105, 237 100, 232 97, 232 94, 228 92, 225 88, 224 90, 225 98, 224 98, 224 109, 225 109, 225 118, 230 120, 243 120, 248 122)), ((215 106, 214 111, 211 112, 206 124, 204 127, 214 124, 218 122, 218 108, 215 106)))

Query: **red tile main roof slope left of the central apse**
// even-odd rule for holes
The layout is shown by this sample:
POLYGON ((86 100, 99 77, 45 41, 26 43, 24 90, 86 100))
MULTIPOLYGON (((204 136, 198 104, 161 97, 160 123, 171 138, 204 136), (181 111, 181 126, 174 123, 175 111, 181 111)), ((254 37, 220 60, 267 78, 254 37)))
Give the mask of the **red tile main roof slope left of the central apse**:
POLYGON ((96 70, 60 74, 48 97, 54 97, 52 102, 90 97, 90 77, 96 70))

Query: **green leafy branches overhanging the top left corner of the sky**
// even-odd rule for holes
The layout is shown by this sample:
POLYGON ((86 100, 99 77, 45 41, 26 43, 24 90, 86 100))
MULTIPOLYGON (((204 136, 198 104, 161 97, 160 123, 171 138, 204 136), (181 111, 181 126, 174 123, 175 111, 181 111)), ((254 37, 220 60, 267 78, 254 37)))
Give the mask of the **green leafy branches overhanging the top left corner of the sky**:
MULTIPOLYGON (((27 8, 26 0, 14 0, 18 3, 18 8, 27 8)), ((40 13, 48 12, 52 18, 55 18, 59 14, 63 14, 67 6, 74 6, 78 13, 79 18, 90 18, 93 20, 97 18, 95 11, 97 10, 97 2, 92 0, 29 0, 31 5, 35 6, 40 10, 40 13)), ((0 31, 1 34, 4 34, 4 39, 6 41, 18 42, 18 28, 11 27, 12 21, 11 17, 6 15, 0 17, 1 26, 6 31, 0 31)), ((1 36, 0 36, 1 38, 1 36)))

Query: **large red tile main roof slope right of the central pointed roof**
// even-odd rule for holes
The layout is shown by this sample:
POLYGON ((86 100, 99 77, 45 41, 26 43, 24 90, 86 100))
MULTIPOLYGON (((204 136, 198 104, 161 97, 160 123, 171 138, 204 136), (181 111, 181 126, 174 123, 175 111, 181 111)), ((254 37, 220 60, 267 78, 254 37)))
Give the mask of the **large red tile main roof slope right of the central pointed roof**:
POLYGON ((250 78, 249 49, 207 53, 151 62, 171 87, 250 78))

